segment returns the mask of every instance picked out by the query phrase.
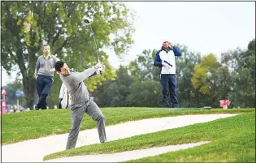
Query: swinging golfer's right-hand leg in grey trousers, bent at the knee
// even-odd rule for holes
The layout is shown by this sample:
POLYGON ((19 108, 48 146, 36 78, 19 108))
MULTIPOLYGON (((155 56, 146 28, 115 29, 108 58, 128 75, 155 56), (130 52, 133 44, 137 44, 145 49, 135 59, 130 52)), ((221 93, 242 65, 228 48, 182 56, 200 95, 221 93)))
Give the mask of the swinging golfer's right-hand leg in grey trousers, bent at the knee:
POLYGON ((93 118, 94 121, 97 121, 98 137, 100 142, 106 142, 105 118, 102 114, 102 110, 99 109, 98 105, 94 101, 90 101, 85 113, 93 118))

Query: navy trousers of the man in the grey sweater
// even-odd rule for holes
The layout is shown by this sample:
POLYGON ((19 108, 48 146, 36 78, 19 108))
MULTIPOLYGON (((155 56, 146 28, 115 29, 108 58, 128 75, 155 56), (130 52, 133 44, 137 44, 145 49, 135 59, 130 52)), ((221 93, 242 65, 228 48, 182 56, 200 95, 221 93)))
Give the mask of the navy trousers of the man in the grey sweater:
POLYGON ((46 97, 50 92, 51 85, 53 84, 53 77, 47 75, 37 76, 37 93, 39 100, 36 109, 47 109, 46 97))

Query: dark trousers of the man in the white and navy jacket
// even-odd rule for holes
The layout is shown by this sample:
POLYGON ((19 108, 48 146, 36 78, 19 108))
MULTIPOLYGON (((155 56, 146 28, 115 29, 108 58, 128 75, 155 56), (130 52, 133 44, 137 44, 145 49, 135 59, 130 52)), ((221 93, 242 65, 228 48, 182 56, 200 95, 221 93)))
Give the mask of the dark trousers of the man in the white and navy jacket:
POLYGON ((171 98, 171 107, 178 108, 178 100, 176 96, 176 75, 175 74, 162 74, 161 85, 163 88, 163 107, 170 107, 169 97, 171 98))

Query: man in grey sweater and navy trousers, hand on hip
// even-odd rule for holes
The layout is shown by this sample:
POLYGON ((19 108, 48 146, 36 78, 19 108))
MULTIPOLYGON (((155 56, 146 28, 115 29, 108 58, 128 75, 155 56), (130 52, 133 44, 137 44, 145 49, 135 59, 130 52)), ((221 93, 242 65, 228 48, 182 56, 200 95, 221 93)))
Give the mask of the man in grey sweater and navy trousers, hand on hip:
POLYGON ((50 88, 54 82, 54 65, 59 58, 50 54, 50 45, 42 46, 43 55, 37 59, 35 77, 37 80, 37 93, 39 100, 35 109, 47 109, 46 97, 50 92, 50 88))

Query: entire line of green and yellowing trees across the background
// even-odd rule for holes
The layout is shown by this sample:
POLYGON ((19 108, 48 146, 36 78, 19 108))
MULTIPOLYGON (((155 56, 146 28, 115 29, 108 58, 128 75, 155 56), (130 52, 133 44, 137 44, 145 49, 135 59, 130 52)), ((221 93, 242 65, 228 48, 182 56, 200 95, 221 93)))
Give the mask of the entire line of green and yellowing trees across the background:
MULTIPOLYGON (((134 13, 122 2, 2 2, 2 62, 11 75, 18 66, 21 81, 7 84, 7 103, 16 101, 15 89, 24 91, 20 102, 33 108, 37 101, 34 70, 41 55, 41 45, 50 45, 52 54, 67 62, 76 71, 96 64, 90 20, 99 49, 100 60, 106 66, 103 75, 85 80, 89 92, 101 107, 160 107, 162 88, 158 67, 153 65, 157 49, 145 49, 130 62, 115 70, 102 50, 114 49, 119 58, 132 45, 134 13)), ((219 107, 220 99, 229 99, 230 107, 255 107, 255 39, 247 49, 233 49, 221 54, 189 51, 178 45, 183 55, 176 58, 177 94, 180 107, 219 107)), ((140 52, 138 52, 140 53, 140 52)), ((54 75, 48 104, 58 105, 59 75, 54 75)))

